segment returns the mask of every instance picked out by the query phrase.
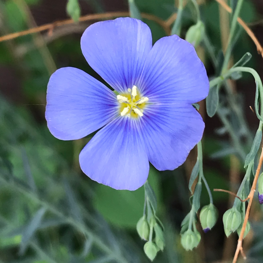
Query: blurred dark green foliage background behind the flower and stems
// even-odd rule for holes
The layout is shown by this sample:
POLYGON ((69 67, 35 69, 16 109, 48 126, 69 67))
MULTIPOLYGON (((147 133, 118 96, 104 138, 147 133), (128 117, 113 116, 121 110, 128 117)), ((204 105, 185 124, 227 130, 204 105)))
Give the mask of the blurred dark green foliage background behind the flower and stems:
MULTIPOLYGON (((167 21, 177 12, 174 0, 136 0, 140 12, 167 21)), ((230 5, 229 1, 228 4, 230 5)), ((229 24, 226 12, 215 0, 198 1, 212 52, 224 50, 224 34, 229 24)), ((128 12, 125 0, 80 0, 81 15, 112 11, 128 12)), ((68 19, 64 0, 0 0, 0 35, 23 31, 46 23, 68 19)), ((240 17, 249 23, 263 43, 261 19, 263 2, 245 0, 240 17)), ((145 16, 143 16, 145 17, 145 16)), ((148 17, 149 18, 149 17, 148 17)), ((144 189, 116 191, 90 180, 80 171, 78 154, 91 138, 59 141, 47 129, 44 118, 47 83, 57 68, 80 68, 103 81, 86 63, 80 50, 82 32, 98 20, 71 23, 33 35, 0 42, 0 262, 149 262, 144 242, 136 233, 143 214, 144 189)), ((153 19, 153 42, 165 36, 164 28, 153 19)), ((183 11, 181 37, 195 22, 191 8, 183 11)), ((172 24, 171 24, 172 26, 172 24)), ((197 48, 208 75, 216 74, 207 46, 197 48)), ((263 61, 254 43, 240 30, 232 51, 236 62, 250 52, 248 66, 262 77, 263 61)), ((249 75, 233 82, 241 115, 249 127, 240 135, 251 147, 258 119, 249 109, 254 104, 255 84, 249 75), (243 138, 243 137, 244 138, 243 138), (250 142, 250 144, 249 144, 250 142)), ((231 140, 222 131, 218 117, 209 118, 204 103, 200 112, 206 123, 203 138, 204 174, 213 188, 236 192, 244 175, 242 162, 231 152, 231 140)), ((241 128, 232 124, 237 132, 241 128)), ((241 131, 242 133, 242 131, 241 131)), ((246 153, 249 152, 246 148, 246 153)), ((188 181, 196 160, 194 149, 186 163, 175 171, 150 168, 149 182, 158 200, 158 216, 165 224, 166 248, 156 262, 230 262, 237 235, 226 239, 222 215, 232 197, 214 192, 219 220, 192 252, 180 244, 180 224, 189 212, 188 181)), ((208 204, 206 191, 201 206, 208 204)), ((249 262, 263 262, 262 212, 254 201, 250 216, 252 231, 244 249, 249 262)), ((198 227, 201 231, 201 227, 198 227)))

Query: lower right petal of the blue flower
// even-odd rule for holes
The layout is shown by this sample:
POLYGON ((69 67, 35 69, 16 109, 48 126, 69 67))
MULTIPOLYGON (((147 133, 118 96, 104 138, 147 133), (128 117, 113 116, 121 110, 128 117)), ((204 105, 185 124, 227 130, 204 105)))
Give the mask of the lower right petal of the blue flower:
POLYGON ((201 140, 204 122, 192 105, 149 105, 141 129, 149 161, 159 171, 174 170, 201 140))

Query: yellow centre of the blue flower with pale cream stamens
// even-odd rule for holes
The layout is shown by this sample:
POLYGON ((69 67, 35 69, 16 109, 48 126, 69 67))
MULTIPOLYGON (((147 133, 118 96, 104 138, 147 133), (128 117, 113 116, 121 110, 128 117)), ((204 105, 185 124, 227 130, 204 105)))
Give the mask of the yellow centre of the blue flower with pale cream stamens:
POLYGON ((137 87, 133 86, 132 89, 128 89, 127 93, 117 95, 117 100, 120 103, 121 116, 137 118, 143 116, 143 109, 149 98, 141 97, 137 87))

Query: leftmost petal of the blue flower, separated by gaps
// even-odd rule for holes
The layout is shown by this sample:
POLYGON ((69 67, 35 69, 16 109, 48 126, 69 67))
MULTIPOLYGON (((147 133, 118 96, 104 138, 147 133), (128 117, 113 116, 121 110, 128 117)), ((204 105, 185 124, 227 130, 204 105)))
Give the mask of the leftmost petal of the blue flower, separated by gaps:
POLYGON ((46 119, 60 140, 76 140, 95 132, 118 114, 116 95, 77 68, 55 71, 47 86, 46 119))

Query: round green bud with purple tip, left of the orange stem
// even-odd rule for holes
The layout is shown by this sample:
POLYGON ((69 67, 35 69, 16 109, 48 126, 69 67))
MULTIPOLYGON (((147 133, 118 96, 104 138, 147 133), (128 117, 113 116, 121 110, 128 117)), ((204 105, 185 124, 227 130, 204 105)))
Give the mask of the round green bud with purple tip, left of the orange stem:
POLYGON ((213 204, 208 204, 201 209, 200 222, 204 232, 208 232, 216 224, 218 212, 213 204))

